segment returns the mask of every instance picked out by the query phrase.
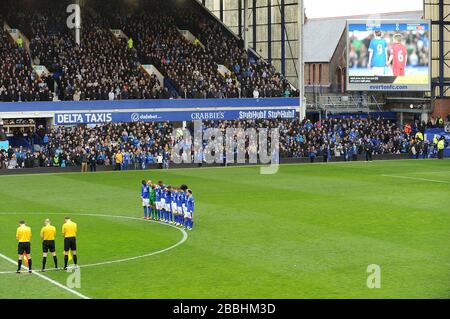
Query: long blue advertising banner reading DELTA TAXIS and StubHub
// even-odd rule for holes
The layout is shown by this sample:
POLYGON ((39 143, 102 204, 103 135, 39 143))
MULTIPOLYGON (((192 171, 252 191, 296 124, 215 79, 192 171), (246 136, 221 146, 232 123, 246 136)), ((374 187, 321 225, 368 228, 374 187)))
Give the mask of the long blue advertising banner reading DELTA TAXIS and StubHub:
POLYGON ((104 124, 118 122, 182 122, 210 120, 293 119, 295 109, 167 111, 167 112, 91 112, 55 113, 55 125, 104 124))

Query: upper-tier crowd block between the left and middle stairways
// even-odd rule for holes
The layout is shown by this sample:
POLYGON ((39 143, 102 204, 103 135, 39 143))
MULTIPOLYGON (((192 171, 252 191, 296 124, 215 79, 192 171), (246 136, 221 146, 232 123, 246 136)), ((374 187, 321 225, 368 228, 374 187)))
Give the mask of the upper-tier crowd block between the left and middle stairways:
POLYGON ((42 10, 27 19, 35 64, 53 74, 60 100, 161 98, 162 84, 140 69, 136 51, 115 38, 101 16, 83 16, 81 45, 65 26, 64 10, 42 10), (55 13, 58 12, 58 13, 55 13))

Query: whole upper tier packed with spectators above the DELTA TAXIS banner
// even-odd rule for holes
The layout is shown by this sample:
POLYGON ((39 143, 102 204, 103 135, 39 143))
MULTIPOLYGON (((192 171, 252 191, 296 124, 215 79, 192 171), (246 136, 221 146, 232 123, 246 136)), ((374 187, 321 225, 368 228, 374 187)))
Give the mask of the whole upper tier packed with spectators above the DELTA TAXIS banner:
POLYGON ((99 10, 102 3, 93 1, 83 9, 78 46, 65 25, 67 3, 2 1, 6 22, 29 39, 29 46, 25 41, 18 48, 3 34, 2 54, 8 57, 2 61, 20 64, 12 70, 2 63, 9 75, 2 73, 1 101, 50 101, 53 93, 64 101, 295 94, 272 65, 243 50, 240 41, 195 6, 176 10, 173 1, 150 0, 136 12, 124 12, 120 2, 99 10), (124 37, 115 37, 112 29, 124 37), (182 29, 195 40, 183 36, 182 29), (154 65, 164 83, 142 64, 154 65), (34 65, 48 73, 38 76, 34 65), (11 79, 11 72, 19 72, 17 79, 11 79))

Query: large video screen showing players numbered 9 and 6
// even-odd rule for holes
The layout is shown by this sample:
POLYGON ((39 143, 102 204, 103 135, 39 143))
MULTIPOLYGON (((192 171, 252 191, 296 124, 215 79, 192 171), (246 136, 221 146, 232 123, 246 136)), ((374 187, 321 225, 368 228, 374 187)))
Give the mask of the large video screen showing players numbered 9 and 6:
POLYGON ((430 21, 347 21, 347 90, 430 91, 430 21))

